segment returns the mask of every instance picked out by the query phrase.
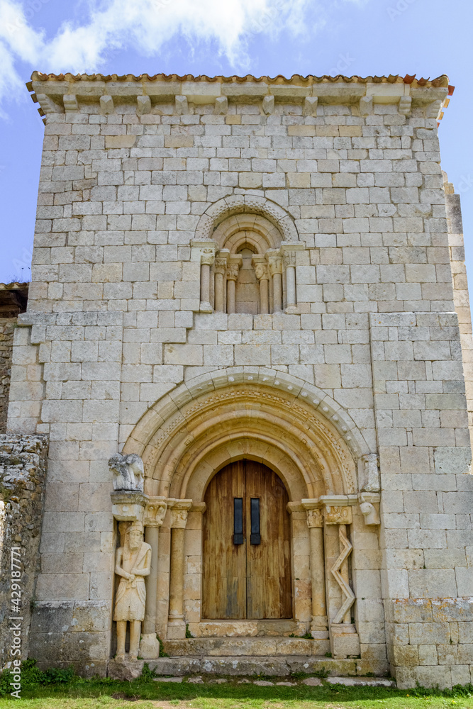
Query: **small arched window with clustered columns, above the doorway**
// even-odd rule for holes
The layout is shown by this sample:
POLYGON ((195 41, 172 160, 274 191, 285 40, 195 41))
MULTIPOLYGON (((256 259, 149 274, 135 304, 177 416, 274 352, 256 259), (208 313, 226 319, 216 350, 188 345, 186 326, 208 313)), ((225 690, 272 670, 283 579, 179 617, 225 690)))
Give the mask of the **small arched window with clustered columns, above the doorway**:
POLYGON ((211 204, 196 228, 201 250, 201 311, 294 312, 296 250, 291 215, 271 200, 233 195, 211 204))

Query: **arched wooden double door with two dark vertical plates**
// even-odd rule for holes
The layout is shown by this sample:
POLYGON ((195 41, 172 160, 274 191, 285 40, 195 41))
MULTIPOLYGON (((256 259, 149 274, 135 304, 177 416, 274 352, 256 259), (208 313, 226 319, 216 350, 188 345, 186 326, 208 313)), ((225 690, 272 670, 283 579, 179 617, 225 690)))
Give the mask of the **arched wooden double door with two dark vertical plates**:
POLYGON ((202 618, 292 618, 286 488, 252 460, 223 468, 208 485, 202 618))

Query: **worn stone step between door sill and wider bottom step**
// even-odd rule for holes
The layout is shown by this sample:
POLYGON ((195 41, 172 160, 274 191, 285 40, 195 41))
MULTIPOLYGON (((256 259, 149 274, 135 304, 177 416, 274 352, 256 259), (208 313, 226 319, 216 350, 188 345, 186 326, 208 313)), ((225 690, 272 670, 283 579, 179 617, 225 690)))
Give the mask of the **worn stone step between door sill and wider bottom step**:
POLYGON ((301 637, 191 637, 165 640, 163 649, 171 657, 317 655, 330 652, 328 640, 301 637))

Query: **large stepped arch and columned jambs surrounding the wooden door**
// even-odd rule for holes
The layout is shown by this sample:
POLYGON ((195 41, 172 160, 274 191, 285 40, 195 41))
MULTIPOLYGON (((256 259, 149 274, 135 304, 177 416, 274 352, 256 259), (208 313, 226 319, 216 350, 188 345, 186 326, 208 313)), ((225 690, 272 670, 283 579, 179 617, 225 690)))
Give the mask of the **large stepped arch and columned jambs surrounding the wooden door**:
MULTIPOLYGON (((147 504, 167 507, 160 532, 158 632, 184 637, 185 623, 198 636, 228 632, 201 615, 203 515, 213 477, 243 460, 273 471, 289 498, 294 631, 311 630, 322 654, 329 649, 329 633, 334 642, 337 633, 348 632, 350 647, 359 647, 350 624, 355 593, 348 530, 355 520, 359 528, 365 525, 357 471, 370 450, 350 416, 325 392, 265 367, 218 369, 157 401, 123 452, 143 458, 147 504), (344 624, 350 628, 340 631, 344 624)), ((373 501, 372 496, 371 507, 373 501)), ((247 626, 237 624, 231 632, 245 635, 247 626)))

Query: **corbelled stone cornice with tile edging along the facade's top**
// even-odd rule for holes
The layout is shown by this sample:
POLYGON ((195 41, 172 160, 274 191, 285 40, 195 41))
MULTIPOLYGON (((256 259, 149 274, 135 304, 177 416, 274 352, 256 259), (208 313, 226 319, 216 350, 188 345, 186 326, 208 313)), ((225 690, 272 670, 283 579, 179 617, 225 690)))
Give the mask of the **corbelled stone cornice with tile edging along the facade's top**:
MULTIPOLYGON (((399 104, 406 113, 410 106, 425 106, 445 99, 453 87, 443 74, 433 81, 414 77, 178 77, 176 74, 156 74, 154 77, 133 74, 118 77, 116 74, 41 74, 33 72, 26 84, 35 103, 40 104, 41 115, 77 111, 79 104, 100 103, 102 113, 113 111, 113 102, 133 100, 137 113, 149 113, 155 104, 176 101, 177 113, 186 113, 187 104, 216 103, 226 97, 230 102, 272 101, 265 113, 272 112, 274 101, 304 103, 305 115, 313 114, 313 99, 320 104, 355 104, 360 99, 375 104, 399 104), (146 99, 143 99, 143 96, 146 99), (149 101, 148 101, 149 99, 149 101), (187 101, 186 101, 187 99, 187 101), (407 101, 406 99, 411 99, 407 101)), ((218 104, 218 106, 217 106, 218 104)), ((439 106, 440 106, 439 104, 439 106)), ((218 110, 217 110, 218 108, 218 110)))

